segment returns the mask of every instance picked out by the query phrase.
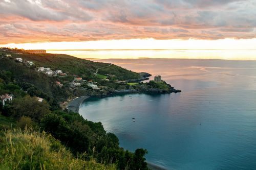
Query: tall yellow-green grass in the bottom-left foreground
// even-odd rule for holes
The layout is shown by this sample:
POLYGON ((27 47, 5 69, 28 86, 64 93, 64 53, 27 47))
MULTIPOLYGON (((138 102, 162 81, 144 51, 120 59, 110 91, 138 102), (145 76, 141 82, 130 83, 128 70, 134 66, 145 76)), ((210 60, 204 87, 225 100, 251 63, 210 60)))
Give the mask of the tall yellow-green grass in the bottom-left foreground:
POLYGON ((75 158, 58 140, 32 129, 5 130, 0 137, 0 169, 116 169, 75 158))

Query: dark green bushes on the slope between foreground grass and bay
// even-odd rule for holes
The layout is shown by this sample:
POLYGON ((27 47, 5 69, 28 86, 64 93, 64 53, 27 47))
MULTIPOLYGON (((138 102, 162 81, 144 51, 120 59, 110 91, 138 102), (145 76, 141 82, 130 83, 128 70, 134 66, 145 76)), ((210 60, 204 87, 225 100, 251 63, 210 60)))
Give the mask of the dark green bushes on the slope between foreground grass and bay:
POLYGON ((116 163, 118 169, 136 169, 137 164, 140 164, 140 169, 147 169, 144 168, 145 150, 144 154, 139 150, 137 155, 124 151, 119 148, 118 138, 113 133, 106 133, 101 123, 84 120, 78 113, 54 111, 41 119, 40 127, 59 139, 73 153, 88 153, 88 160, 116 163))

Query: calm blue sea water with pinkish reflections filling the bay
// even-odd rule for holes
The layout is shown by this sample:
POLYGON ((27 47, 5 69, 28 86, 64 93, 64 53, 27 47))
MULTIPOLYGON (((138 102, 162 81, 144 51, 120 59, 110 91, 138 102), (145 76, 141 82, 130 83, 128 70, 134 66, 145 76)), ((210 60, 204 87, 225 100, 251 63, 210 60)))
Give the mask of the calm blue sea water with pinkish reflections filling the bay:
POLYGON ((79 113, 102 122, 121 147, 145 148, 147 161, 168 169, 256 169, 256 61, 101 61, 161 75, 182 90, 84 101, 79 113))

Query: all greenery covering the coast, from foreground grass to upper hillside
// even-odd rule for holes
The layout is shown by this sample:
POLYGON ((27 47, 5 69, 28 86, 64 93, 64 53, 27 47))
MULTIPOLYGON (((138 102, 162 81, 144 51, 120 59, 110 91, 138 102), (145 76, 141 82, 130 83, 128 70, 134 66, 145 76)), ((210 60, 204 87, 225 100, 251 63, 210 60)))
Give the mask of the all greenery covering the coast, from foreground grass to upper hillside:
MULTIPOLYGON (((12 55, 34 61, 38 66, 55 65, 56 69, 63 71, 70 69, 70 74, 89 75, 89 78, 94 68, 109 65, 83 62, 67 55, 63 55, 63 59, 61 55, 51 54, 12 55), (41 63, 44 65, 39 65, 41 63), (76 67, 76 64, 80 68, 88 67, 81 68, 84 72, 70 68, 76 67)), ((4 129, 7 128, 0 129, 0 169, 147 169, 144 158, 146 150, 137 149, 135 153, 125 151, 119 147, 118 138, 113 133, 106 133, 101 123, 85 120, 78 113, 60 110, 58 102, 78 94, 79 90, 72 91, 67 84, 60 88, 55 81, 65 83, 72 80, 73 75, 47 77, 12 58, 0 60, 0 95, 14 95, 14 99, 6 102, 5 106, 0 103, 0 123, 4 129), (37 97, 44 100, 39 102, 37 97), (8 128, 9 124, 14 125, 8 128), (15 126, 20 129, 14 130, 15 126), (33 127, 34 130, 28 130, 27 127, 33 127)), ((109 67, 113 67, 114 71, 109 70, 112 75, 109 75, 110 81, 104 81, 106 88, 129 88, 129 85, 117 84, 114 80, 137 76, 136 73, 118 66, 109 67)), ((106 72, 102 75, 107 75, 106 72)), ((92 78, 100 81, 94 75, 92 78)))

